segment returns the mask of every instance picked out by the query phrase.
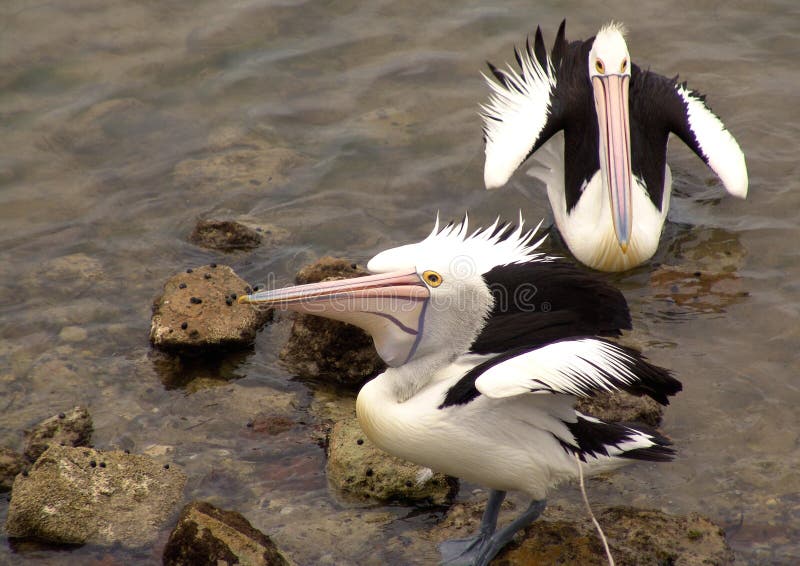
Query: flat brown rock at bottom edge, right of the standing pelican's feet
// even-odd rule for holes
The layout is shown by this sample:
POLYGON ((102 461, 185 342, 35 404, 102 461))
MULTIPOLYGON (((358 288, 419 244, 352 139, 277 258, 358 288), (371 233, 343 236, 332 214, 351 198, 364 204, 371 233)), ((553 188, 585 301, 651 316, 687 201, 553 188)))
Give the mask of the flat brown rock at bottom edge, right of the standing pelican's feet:
MULTIPOLYGON (((574 514, 571 515, 574 517, 574 514)), ((724 531, 697 513, 675 516, 661 511, 612 507, 597 518, 619 566, 637 564, 731 564, 733 552, 724 531)), ((590 520, 534 522, 524 539, 503 550, 492 564, 607 564, 602 542, 590 520)))

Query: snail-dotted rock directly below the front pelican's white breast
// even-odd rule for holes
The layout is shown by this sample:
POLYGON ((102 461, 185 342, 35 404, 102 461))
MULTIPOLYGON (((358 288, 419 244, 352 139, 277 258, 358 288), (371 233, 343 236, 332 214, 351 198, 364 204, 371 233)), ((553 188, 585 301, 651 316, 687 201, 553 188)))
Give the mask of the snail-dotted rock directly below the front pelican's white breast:
POLYGON ((458 480, 395 458, 378 449, 355 417, 336 423, 328 439, 328 481, 361 499, 447 505, 458 480))

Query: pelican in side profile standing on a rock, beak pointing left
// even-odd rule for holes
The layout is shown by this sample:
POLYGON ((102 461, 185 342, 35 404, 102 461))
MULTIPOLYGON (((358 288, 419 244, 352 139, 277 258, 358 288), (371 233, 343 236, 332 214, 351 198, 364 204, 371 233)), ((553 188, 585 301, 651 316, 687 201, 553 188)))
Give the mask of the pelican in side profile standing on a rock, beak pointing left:
MULTIPOLYGON (((540 223, 541 225, 541 223, 540 223)), ((360 326, 389 368, 356 402, 364 433, 390 454, 488 487, 478 534, 440 546, 450 564, 488 564, 544 509, 547 493, 673 450, 646 425, 607 423, 578 397, 625 390, 662 404, 681 389, 665 369, 609 340, 631 326, 622 294, 536 251, 539 226, 468 219, 383 251, 372 275, 261 291, 242 303, 360 326), (579 463, 580 461, 580 463, 579 463), (506 492, 532 498, 497 529, 506 492)))

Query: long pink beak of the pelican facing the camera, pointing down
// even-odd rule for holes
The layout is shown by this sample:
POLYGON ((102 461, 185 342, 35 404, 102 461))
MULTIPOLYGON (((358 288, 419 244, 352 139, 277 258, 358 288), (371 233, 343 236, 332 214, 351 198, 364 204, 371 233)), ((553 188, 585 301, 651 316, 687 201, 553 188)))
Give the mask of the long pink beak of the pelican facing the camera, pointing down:
POLYGON ((614 232, 623 253, 628 249, 633 228, 629 84, 630 75, 592 77, 600 128, 600 170, 610 193, 614 232))

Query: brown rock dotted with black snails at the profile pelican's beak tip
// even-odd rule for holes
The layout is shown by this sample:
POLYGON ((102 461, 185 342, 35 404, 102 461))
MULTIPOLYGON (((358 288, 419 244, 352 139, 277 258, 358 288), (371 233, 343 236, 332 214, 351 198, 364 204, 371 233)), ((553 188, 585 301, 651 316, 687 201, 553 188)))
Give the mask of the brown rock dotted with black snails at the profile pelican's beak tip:
POLYGON ((236 296, 249 289, 227 265, 187 269, 171 277, 153 303, 150 341, 181 351, 250 345, 272 311, 238 304, 236 296))

